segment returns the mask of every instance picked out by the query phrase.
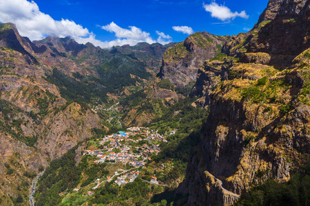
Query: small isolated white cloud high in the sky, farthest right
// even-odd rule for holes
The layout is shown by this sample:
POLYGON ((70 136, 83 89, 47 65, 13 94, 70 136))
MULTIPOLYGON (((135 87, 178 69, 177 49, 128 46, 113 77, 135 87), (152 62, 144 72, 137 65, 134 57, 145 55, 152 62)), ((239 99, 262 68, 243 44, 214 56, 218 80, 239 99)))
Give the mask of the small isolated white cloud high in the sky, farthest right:
POLYGON ((212 17, 220 19, 222 21, 235 19, 237 16, 244 19, 249 18, 249 15, 247 15, 245 11, 242 11, 240 13, 231 12, 231 10, 227 8, 227 6, 218 5, 218 3, 216 3, 215 1, 210 4, 203 4, 203 8, 205 8, 207 12, 210 12, 212 17))

